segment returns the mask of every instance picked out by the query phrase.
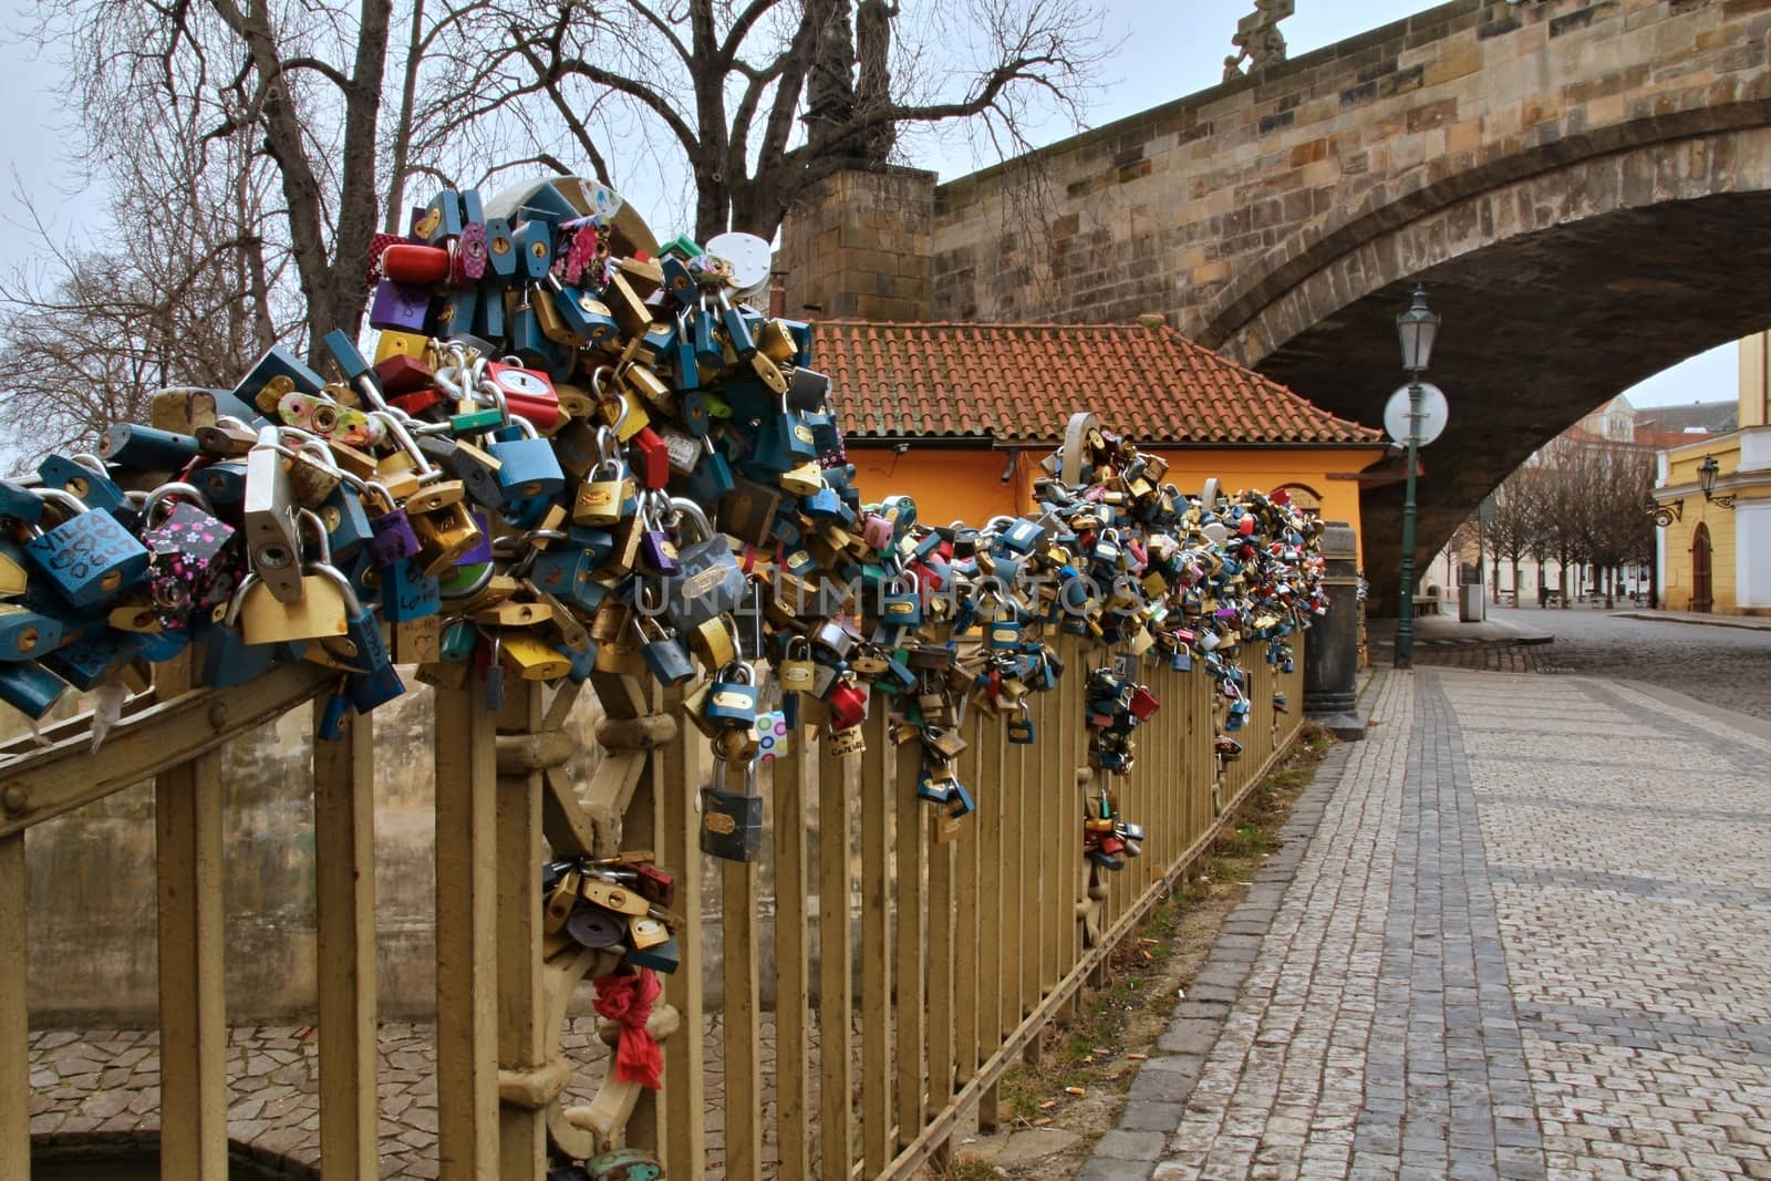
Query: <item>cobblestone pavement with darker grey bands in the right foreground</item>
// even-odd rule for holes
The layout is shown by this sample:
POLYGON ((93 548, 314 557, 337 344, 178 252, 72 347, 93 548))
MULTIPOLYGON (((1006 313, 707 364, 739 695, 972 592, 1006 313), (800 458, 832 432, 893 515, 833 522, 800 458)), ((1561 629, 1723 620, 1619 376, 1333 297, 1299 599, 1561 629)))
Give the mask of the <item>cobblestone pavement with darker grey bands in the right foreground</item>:
POLYGON ((1456 671, 1371 712, 1079 1177, 1771 1177, 1771 728, 1456 671))

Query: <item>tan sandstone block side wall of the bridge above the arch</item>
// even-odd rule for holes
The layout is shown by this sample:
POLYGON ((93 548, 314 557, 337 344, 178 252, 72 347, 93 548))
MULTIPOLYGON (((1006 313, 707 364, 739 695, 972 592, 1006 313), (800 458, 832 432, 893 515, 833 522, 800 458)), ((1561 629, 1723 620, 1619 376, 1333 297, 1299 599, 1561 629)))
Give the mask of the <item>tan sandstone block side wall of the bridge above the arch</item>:
POLYGON ((1261 312, 1362 241, 1571 159, 1771 122, 1767 32, 1766 0, 1429 9, 939 186, 930 317, 1160 310, 1259 363, 1307 328, 1250 331, 1261 312))

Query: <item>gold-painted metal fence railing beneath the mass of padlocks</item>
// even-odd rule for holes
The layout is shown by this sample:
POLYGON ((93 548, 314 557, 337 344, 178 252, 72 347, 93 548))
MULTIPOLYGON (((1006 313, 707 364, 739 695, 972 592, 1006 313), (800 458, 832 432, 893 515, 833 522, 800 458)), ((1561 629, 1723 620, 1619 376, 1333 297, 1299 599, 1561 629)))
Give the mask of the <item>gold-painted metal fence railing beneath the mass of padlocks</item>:
MULTIPOLYGON (((1203 669, 1144 671, 1162 708, 1137 731, 1137 765, 1114 777, 1119 811, 1148 829, 1142 857, 1103 873, 1082 857, 1082 806, 1098 791, 1082 724, 1087 669, 1109 653, 1057 637, 1068 675, 1031 701, 1036 742, 1006 742, 972 712, 958 763, 978 811, 935 820, 916 799, 917 760, 898 756, 884 708, 866 753, 799 740, 765 763, 772 907, 756 862, 705 862, 696 799, 707 744, 636 678, 597 673, 590 783, 563 774, 561 726, 577 685, 512 682, 434 689, 437 1128, 443 1181, 540 1179, 549 1149, 586 1158, 652 1147, 666 1176, 900 1177, 947 1154, 960 1115, 994 1119, 1004 1071, 1103 967, 1112 946, 1206 848, 1222 818, 1296 731, 1275 714, 1302 676, 1247 650, 1250 722, 1240 761, 1213 754, 1224 699, 1203 669), (664 977, 648 1029, 664 1087, 604 1078, 567 1107, 560 1048, 574 992, 618 956, 551 938, 544 855, 650 848, 677 871, 682 967, 664 977), (703 873, 719 875, 717 1064, 701 1030, 703 873), (772 928, 772 930, 767 930, 772 928), (765 935, 774 954, 763 963, 765 935), (770 986, 763 988, 763 972, 770 986), (772 995, 772 1054, 763 1000, 772 995), (719 1075, 723 1119, 708 1119, 719 1075), (772 1103, 769 1101, 772 1096, 772 1103), (710 1124, 717 1153, 710 1156, 710 1124), (777 1162, 765 1163, 765 1130, 777 1162)), ((1295 643, 1302 668, 1302 643, 1295 643)), ((333 673, 282 666, 227 692, 189 689, 181 660, 131 701, 101 751, 89 721, 0 747, 0 1177, 30 1176, 25 841, 32 825, 154 781, 161 1020, 161 1176, 223 1181, 221 745, 322 696, 333 673)), ((315 712, 321 708, 313 705, 315 712)), ((809 733, 809 731, 806 731, 809 733)), ((379 1176, 375 1091, 374 724, 313 747, 319 926, 319 1137, 328 1179, 379 1176)), ((739 772, 731 772, 739 774, 739 772)), ((616 1027, 606 1023, 606 1039, 616 1027)), ((600 1069, 600 1068, 599 1068, 600 1069)))

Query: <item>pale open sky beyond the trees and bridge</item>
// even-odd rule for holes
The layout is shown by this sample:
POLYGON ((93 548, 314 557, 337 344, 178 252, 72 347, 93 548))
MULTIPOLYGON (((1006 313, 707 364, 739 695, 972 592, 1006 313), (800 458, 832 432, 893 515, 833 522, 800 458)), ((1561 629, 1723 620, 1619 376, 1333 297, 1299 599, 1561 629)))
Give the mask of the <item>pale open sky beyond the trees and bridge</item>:
MULTIPOLYGON (((910 7, 909 4, 905 5, 910 7)), ((1280 25, 1293 57, 1334 44, 1355 34, 1387 25, 1431 7, 1424 0, 1296 0, 1296 14, 1280 25)), ((35 58, 12 35, 30 21, 35 5, 28 0, 0 0, 0 110, 12 112, 0 126, 0 158, 5 161, 5 191, 0 209, 7 225, 0 227, 0 269, 28 266, 28 235, 12 228, 18 221, 16 197, 27 195, 43 207, 58 211, 57 223, 76 230, 81 212, 92 209, 92 195, 78 191, 76 172, 69 165, 66 115, 58 101, 67 87, 50 60, 35 58)), ((1252 0, 1107 0, 1096 5, 1103 34, 1116 44, 1100 89, 1087 110, 1091 126, 1172 101, 1217 85, 1229 37, 1238 18, 1254 11, 1252 0)), ((1061 140, 1077 127, 1061 119, 1048 120, 1036 138, 1061 140)), ((935 168, 944 177, 963 175, 974 166, 994 163, 976 159, 967 145, 947 140, 919 143, 910 161, 935 168)), ((630 193, 645 212, 646 200, 630 193)), ((662 225, 669 221, 655 221, 662 225)), ((1736 347, 1721 345, 1691 358, 1628 391, 1635 405, 1675 405, 1698 400, 1732 398, 1736 390, 1736 347)))

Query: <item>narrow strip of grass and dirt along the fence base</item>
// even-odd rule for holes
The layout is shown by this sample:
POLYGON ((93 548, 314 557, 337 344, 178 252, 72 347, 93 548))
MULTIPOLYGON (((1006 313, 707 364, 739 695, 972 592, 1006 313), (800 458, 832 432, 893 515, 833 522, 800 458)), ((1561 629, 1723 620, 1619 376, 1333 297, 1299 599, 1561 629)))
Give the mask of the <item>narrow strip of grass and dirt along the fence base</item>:
MULTIPOLYGON (((1215 938, 1220 919, 1201 930, 1201 903, 1240 898, 1245 889, 1241 884, 1252 880, 1261 862, 1279 848, 1279 829, 1291 814, 1291 804, 1311 783, 1332 744, 1334 737, 1326 729, 1305 724, 1286 761, 1247 795, 1174 894, 1156 903, 1144 924, 1114 949, 1109 986, 1086 993, 1077 1020, 1047 1027, 1038 1066, 1022 1062, 1002 1077, 997 1091, 1002 1123, 1063 1128, 1064 1108, 1079 1098, 1070 1087, 1098 1094, 1130 1085, 1142 1059, 1128 1055, 1148 1050, 1155 1034, 1128 1045, 1128 1027, 1148 1029, 1153 1018, 1167 1022, 1176 988, 1192 983, 1190 970, 1178 976, 1169 969, 1171 956, 1183 940, 1197 947, 1201 938, 1206 946, 1215 938)), ((1160 1023, 1156 1029, 1160 1032, 1160 1023)), ((1098 1135, 1098 1130, 1089 1130, 1089 1135, 1098 1135)), ((976 1162, 962 1163, 944 1176, 960 1181, 1002 1176, 978 1169, 976 1162)))

